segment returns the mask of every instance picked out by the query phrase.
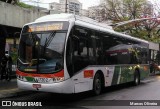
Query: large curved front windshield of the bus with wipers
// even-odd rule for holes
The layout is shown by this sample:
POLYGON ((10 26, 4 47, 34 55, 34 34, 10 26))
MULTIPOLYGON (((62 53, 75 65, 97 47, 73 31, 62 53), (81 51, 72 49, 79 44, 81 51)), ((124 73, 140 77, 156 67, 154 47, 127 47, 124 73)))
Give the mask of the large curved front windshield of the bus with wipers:
POLYGON ((30 73, 54 73, 63 69, 66 31, 22 31, 17 68, 30 73))

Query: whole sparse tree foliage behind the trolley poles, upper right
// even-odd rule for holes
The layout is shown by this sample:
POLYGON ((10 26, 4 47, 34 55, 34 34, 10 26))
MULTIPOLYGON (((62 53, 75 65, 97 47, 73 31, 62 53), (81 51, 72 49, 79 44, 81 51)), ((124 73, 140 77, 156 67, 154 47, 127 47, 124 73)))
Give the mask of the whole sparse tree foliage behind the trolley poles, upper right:
POLYGON ((101 16, 104 20, 110 20, 113 24, 133 20, 133 22, 115 28, 132 36, 149 41, 160 42, 160 30, 157 28, 160 22, 153 17, 152 4, 147 0, 106 0, 102 5, 101 16), (135 19, 149 18, 147 20, 134 21, 135 19))

